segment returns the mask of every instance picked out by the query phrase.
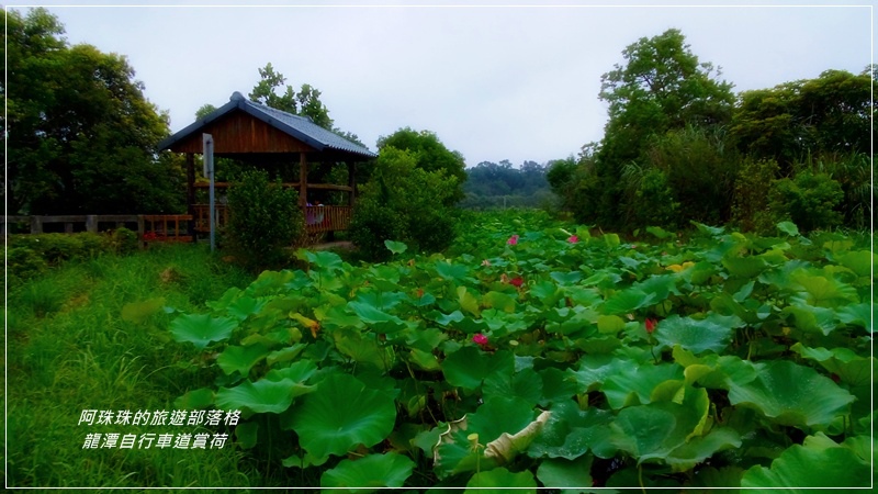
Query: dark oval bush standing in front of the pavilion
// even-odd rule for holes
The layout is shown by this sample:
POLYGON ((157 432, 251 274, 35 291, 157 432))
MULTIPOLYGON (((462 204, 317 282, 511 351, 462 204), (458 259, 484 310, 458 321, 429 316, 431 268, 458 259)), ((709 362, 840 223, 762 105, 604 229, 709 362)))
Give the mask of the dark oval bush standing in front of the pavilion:
POLYGON ((228 189, 228 242, 245 266, 260 270, 282 266, 292 246, 304 232, 299 194, 274 183, 268 173, 250 170, 228 189))

